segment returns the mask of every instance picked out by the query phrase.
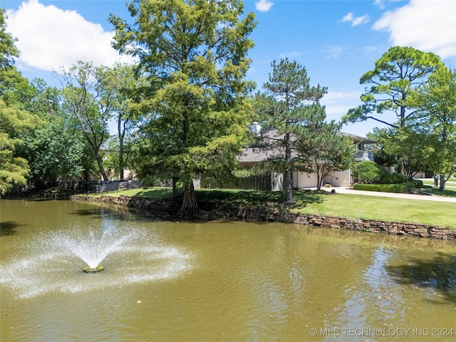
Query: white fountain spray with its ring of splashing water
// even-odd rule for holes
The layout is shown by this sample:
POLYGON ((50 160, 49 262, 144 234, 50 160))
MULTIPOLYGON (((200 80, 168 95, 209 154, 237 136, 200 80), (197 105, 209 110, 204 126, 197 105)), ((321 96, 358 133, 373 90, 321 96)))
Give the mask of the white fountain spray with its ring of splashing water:
POLYGON ((150 226, 112 223, 34 232, 27 242, 17 242, 14 257, 2 259, 0 283, 31 298, 172 279, 192 268, 191 255, 158 241, 150 226))

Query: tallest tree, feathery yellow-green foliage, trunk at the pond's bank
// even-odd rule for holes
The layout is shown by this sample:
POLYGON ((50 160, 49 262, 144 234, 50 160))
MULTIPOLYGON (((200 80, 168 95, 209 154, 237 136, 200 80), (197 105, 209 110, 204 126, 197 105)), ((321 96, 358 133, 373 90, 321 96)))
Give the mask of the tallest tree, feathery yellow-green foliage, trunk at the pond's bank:
POLYGON ((150 81, 140 104, 148 116, 139 132, 138 174, 177 180, 180 213, 193 214, 195 176, 225 180, 247 135, 254 14, 244 16, 237 0, 133 1, 128 10, 133 24, 110 21, 113 46, 138 58, 150 81))

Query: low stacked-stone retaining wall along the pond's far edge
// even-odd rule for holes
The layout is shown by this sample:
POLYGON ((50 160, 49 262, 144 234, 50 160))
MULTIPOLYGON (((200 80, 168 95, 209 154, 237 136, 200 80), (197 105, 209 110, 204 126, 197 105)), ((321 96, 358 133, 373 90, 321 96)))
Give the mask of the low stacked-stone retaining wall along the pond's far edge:
MULTIPOLYGON (((181 202, 173 199, 152 199, 144 197, 90 197, 88 195, 73 195, 73 200, 85 202, 100 202, 133 207, 153 212, 157 218, 176 218, 181 202)), ((199 202, 200 214, 197 219, 209 221, 216 219, 252 219, 258 221, 284 222, 306 224, 310 226, 329 227, 336 229, 361 230, 385 234, 406 235, 412 237, 427 237, 456 241, 456 231, 429 224, 410 224, 404 222, 389 222, 372 219, 353 219, 347 217, 325 217, 321 215, 293 214, 273 209, 263 208, 232 208, 220 207, 214 203, 199 202)))

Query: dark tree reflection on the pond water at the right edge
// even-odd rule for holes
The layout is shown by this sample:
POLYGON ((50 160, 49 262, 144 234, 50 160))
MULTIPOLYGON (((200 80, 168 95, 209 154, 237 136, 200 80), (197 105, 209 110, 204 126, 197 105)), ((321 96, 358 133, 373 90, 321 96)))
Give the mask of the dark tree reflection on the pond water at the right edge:
POLYGON ((400 284, 435 289, 443 298, 456 302, 456 254, 440 253, 431 260, 411 259, 408 264, 385 269, 400 284))

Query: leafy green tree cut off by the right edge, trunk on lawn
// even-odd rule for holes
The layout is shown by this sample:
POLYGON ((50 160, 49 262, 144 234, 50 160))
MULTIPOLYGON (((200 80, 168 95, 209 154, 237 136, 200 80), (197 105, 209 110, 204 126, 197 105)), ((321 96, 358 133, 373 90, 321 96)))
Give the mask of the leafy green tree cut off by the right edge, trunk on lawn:
POLYGON ((427 160, 440 174, 443 191, 456 172, 456 71, 440 66, 427 83, 410 93, 408 105, 414 109, 408 125, 427 137, 421 142, 423 150, 432 151, 427 160))

